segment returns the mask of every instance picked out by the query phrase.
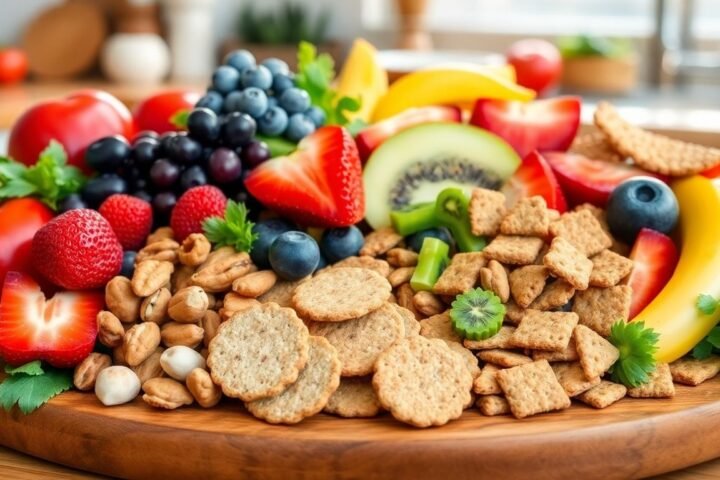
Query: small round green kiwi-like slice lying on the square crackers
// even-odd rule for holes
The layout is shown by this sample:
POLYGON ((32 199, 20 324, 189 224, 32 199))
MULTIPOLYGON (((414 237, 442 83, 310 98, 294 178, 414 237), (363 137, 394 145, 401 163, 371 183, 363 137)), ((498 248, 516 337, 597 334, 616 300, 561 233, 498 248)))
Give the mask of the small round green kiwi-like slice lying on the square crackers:
POLYGON ((505 305, 493 292, 476 288, 455 297, 450 309, 453 328, 463 338, 485 340, 500 331, 505 305))

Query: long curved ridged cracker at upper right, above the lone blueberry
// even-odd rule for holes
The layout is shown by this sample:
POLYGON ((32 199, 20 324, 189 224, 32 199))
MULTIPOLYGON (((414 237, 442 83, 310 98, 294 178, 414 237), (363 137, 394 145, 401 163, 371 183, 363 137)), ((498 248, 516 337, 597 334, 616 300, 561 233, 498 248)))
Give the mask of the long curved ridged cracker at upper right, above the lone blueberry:
POLYGON ((675 140, 625 121, 607 102, 595 110, 595 126, 621 155, 650 172, 673 177, 700 173, 720 164, 720 149, 675 140))

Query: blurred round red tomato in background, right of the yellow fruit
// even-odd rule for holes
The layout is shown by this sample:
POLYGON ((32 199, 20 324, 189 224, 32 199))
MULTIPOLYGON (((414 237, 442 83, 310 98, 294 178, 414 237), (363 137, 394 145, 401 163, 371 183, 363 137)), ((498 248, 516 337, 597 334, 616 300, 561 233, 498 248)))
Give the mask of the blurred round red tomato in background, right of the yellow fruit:
POLYGON ((517 82, 535 90, 538 95, 560 79, 562 57, 550 42, 532 38, 517 41, 510 45, 506 57, 508 63, 515 67, 517 82))

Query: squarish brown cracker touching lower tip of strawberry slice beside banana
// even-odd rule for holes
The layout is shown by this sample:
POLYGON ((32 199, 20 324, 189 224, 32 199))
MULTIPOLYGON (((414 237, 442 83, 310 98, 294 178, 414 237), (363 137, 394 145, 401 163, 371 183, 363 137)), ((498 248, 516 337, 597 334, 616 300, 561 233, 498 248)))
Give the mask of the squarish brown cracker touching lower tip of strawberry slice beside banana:
POLYGON ((610 327, 630 315, 632 287, 616 285, 609 288, 590 287, 577 292, 572 311, 580 317, 580 325, 592 328, 603 337, 610 336, 610 327))

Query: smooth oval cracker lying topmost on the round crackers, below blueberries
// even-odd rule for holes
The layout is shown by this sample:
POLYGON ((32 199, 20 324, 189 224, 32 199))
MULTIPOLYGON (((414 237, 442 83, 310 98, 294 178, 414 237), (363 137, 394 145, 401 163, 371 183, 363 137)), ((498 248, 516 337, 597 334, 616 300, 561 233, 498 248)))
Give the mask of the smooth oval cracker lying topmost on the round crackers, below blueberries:
POLYGON ((298 315, 316 322, 342 322, 380 308, 392 287, 378 273, 364 268, 329 268, 295 289, 298 315))

